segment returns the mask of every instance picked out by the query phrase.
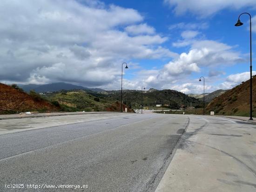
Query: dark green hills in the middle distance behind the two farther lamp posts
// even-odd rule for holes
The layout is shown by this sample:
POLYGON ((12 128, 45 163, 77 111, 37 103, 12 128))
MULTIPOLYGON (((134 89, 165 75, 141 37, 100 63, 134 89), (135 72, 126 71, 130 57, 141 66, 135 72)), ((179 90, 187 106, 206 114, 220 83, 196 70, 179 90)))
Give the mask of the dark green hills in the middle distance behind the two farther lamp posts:
MULTIPOLYGON (((121 91, 105 91, 100 94, 100 97, 106 100, 120 100, 121 99, 121 91)), ((139 90, 123 90, 123 102, 128 104, 129 106, 135 107, 135 105, 141 105, 141 91, 139 90)), ((156 104, 169 105, 171 108, 179 108, 183 106, 184 102, 184 94, 174 90, 148 90, 143 91, 143 104, 144 106, 155 106, 156 104)), ((187 107, 190 106, 190 102, 192 106, 202 106, 202 102, 193 97, 189 97, 185 95, 185 105, 187 107)))

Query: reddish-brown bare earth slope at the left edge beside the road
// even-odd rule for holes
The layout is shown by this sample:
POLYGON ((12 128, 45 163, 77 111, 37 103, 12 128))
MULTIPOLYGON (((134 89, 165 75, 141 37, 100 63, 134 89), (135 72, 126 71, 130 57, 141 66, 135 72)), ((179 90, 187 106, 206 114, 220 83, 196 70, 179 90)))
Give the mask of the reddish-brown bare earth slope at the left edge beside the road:
POLYGON ((35 99, 27 93, 0 83, 0 113, 17 113, 27 111, 56 111, 49 102, 35 99))

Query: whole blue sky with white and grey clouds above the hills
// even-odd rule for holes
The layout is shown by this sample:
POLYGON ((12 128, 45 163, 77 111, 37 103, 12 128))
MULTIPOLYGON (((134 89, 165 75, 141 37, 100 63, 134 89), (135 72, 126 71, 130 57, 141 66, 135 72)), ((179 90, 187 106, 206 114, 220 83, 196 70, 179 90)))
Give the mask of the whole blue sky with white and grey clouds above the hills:
POLYGON ((202 93, 256 74, 256 0, 2 0, 0 82, 202 93))

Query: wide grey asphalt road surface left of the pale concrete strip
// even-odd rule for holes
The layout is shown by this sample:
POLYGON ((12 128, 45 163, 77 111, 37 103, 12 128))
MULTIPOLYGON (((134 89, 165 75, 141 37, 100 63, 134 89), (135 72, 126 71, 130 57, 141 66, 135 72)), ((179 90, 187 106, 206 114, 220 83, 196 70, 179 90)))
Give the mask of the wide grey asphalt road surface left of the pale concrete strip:
POLYGON ((182 115, 134 114, 2 134, 0 191, 74 190, 27 188, 33 184, 88 185, 77 192, 148 191, 162 177, 187 123, 182 115))

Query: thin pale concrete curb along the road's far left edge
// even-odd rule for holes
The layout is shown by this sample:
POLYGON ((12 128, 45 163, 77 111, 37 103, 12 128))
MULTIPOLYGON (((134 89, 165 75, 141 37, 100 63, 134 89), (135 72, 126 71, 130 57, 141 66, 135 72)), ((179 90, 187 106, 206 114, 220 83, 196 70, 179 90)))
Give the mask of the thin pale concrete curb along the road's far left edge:
POLYGON ((66 113, 66 114, 63 113, 63 114, 49 114, 49 115, 27 115, 27 116, 17 116, 17 117, 1 117, 0 120, 36 118, 36 117, 56 117, 56 116, 67 116, 67 115, 102 114, 102 113, 120 113, 120 112, 97 112, 97 113, 87 112, 87 113, 66 113))

